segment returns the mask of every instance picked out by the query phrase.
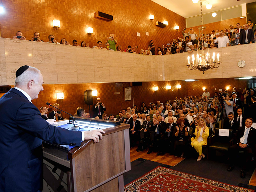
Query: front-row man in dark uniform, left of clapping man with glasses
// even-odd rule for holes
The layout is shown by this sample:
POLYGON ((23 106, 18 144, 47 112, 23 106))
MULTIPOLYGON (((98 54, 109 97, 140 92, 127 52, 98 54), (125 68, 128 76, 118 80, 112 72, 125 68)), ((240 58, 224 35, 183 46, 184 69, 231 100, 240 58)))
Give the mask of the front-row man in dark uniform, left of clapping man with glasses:
POLYGON ((150 131, 154 128, 153 121, 150 120, 150 116, 146 116, 146 121, 142 123, 140 129, 140 144, 136 151, 144 151, 146 148, 145 137, 149 137, 150 131))

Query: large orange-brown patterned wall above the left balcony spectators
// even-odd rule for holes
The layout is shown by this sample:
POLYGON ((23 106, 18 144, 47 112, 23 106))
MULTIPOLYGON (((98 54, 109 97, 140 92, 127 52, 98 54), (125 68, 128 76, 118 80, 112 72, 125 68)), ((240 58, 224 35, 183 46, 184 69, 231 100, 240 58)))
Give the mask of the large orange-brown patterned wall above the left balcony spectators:
POLYGON ((181 36, 181 30, 174 30, 174 26, 185 27, 185 18, 150 1, 150 0, 2 0, 6 14, 1 15, 1 37, 12 38, 16 32, 22 31, 27 40, 31 39, 35 31, 40 33, 41 39, 48 41, 48 35, 53 34, 58 42, 62 38, 72 44, 76 39, 90 43, 90 47, 97 41, 105 41, 110 33, 116 36, 122 51, 128 45, 138 45, 139 49, 146 49, 151 39, 155 45, 161 46, 171 39, 181 36), (113 15, 113 21, 106 21, 94 17, 94 12, 104 12, 113 15), (150 20, 153 14, 155 20, 150 20), (60 20, 60 28, 52 27, 52 20, 60 20), (156 26, 156 21, 168 21, 166 28, 156 26), (92 27, 94 34, 87 35, 87 27, 92 27), (149 36, 145 32, 149 32, 149 36), (140 37, 137 36, 140 32, 140 37))

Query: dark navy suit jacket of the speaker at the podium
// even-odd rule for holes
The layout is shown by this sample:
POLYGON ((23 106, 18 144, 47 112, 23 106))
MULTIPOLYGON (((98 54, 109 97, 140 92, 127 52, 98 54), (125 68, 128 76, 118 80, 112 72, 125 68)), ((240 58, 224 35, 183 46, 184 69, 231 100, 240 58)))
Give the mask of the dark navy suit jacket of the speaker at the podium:
POLYGON ((80 146, 82 133, 50 125, 19 90, 0 98, 0 192, 42 187, 42 140, 80 146))

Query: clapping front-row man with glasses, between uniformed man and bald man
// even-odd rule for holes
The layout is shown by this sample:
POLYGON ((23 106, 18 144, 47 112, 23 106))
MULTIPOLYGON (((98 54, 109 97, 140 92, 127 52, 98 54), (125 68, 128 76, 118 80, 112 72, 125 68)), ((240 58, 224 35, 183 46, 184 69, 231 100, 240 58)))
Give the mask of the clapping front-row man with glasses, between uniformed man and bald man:
POLYGON ((158 115, 157 120, 156 121, 153 120, 154 128, 151 129, 149 133, 151 145, 149 146, 149 150, 147 154, 152 153, 153 148, 156 147, 158 144, 157 139, 160 139, 161 135, 164 134, 166 123, 162 121, 162 118, 163 118, 162 115, 158 115))

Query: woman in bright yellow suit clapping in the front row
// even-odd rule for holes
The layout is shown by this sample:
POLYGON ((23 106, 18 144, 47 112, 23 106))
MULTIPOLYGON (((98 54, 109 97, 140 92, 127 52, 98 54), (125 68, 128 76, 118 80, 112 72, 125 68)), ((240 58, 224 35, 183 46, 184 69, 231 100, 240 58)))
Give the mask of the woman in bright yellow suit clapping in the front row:
POLYGON ((209 128, 206 126, 204 120, 200 118, 198 120, 198 124, 196 126, 195 135, 196 137, 191 138, 191 146, 194 147, 198 153, 197 161, 200 161, 201 158, 204 158, 204 154, 202 153, 202 146, 207 145, 207 137, 209 136, 209 128))

